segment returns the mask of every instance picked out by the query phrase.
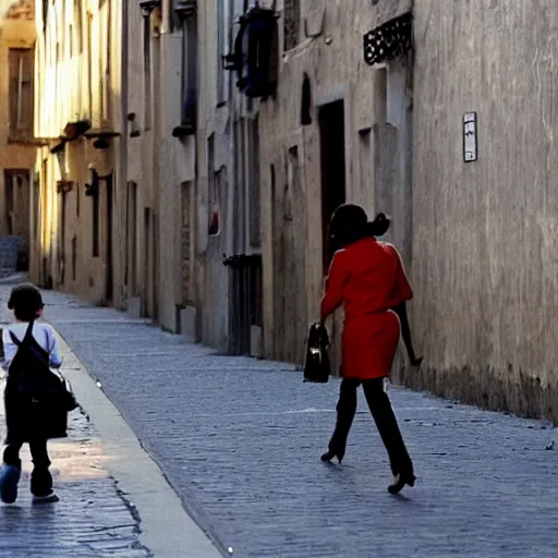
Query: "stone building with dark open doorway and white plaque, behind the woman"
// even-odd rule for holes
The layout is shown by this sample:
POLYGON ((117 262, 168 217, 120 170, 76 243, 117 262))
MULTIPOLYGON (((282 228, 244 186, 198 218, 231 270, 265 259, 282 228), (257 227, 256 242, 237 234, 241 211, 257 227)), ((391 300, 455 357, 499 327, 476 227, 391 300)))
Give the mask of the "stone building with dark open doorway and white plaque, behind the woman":
POLYGON ((264 354, 301 362, 328 257, 325 223, 338 203, 355 202, 392 216, 389 240, 415 289, 413 333, 426 364, 401 361, 396 377, 558 420, 558 5, 276 8, 278 87, 259 111, 264 354), (405 14, 413 49, 366 64, 365 37, 405 14))

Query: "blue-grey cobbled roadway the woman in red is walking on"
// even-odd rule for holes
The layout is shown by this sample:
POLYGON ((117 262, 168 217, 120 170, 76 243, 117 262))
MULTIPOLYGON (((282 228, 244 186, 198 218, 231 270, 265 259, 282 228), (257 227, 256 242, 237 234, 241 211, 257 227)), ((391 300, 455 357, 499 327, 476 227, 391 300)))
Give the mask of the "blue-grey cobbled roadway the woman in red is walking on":
POLYGON ((75 298, 46 302, 187 509, 234 556, 558 556, 550 426, 391 388, 418 477, 391 497, 362 397, 344 464, 319 461, 337 381, 303 384, 290 366, 219 356, 75 298))

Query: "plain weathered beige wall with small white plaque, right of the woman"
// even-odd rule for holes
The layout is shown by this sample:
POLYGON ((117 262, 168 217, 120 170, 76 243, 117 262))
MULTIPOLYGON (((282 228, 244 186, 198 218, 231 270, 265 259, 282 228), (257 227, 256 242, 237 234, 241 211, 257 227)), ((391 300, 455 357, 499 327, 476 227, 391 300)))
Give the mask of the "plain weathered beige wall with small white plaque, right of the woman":
POLYGON ((407 377, 555 420, 557 25, 550 0, 415 2, 413 323, 428 365, 407 377))

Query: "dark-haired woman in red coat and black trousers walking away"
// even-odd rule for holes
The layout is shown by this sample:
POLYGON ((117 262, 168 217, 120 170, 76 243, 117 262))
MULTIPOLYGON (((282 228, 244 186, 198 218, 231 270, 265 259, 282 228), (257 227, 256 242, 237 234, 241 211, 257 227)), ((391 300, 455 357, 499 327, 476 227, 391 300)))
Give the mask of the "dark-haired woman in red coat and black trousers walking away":
POLYGON ((362 384, 366 401, 386 446, 393 483, 391 494, 414 485, 413 463, 407 451, 385 390, 400 337, 400 320, 392 308, 403 308, 413 296, 401 258, 391 244, 378 242, 374 223, 355 205, 339 207, 331 218, 330 234, 342 247, 333 255, 326 293, 324 322, 341 304, 344 307, 342 376, 337 424, 323 461, 341 462, 356 412, 356 389, 362 384))

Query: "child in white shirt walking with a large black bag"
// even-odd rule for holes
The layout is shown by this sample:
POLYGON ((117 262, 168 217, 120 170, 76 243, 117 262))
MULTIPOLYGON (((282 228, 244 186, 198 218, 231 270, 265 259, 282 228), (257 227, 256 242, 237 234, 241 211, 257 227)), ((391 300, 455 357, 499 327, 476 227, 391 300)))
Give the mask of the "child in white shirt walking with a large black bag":
MULTIPOLYGON (((0 498, 17 498, 22 462, 20 450, 29 445, 33 458, 31 492, 34 504, 58 501, 52 489, 47 440, 66 436, 68 412, 75 408, 63 380, 50 371, 62 364, 52 329, 36 320, 43 317, 43 298, 33 284, 12 290, 8 307, 15 323, 2 331, 3 367, 8 371, 4 408, 8 435, 0 469, 0 498)), ((75 402, 75 401, 74 401, 75 402)))

